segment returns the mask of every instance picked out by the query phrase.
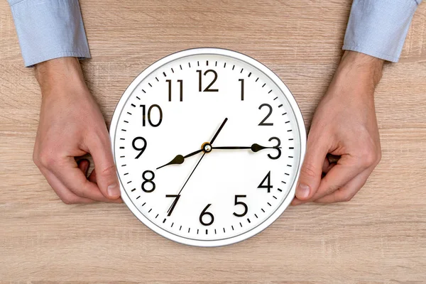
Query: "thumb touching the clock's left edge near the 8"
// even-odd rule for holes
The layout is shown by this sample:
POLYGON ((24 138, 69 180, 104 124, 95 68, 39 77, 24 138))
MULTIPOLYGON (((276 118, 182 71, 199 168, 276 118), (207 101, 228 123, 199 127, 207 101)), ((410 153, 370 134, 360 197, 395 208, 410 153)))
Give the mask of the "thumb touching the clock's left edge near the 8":
MULTIPOLYGON (((107 130, 105 129, 105 131, 107 130)), ((121 192, 108 133, 104 138, 88 142, 87 146, 94 160, 99 189, 105 197, 116 200, 120 197, 121 192)))

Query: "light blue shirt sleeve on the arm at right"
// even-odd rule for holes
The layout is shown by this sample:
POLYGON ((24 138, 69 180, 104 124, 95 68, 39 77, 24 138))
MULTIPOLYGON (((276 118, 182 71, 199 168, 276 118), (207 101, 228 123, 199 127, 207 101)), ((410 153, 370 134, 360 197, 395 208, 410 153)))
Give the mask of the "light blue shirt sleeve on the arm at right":
POLYGON ((398 62, 421 0, 354 0, 344 50, 398 62))

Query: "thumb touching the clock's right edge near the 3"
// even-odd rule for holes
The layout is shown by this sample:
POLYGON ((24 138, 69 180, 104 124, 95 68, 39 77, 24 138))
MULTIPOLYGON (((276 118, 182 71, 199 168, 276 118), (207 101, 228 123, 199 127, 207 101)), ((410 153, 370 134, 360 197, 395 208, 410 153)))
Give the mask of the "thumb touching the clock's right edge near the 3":
POLYGON ((323 139, 307 138, 305 160, 300 169, 299 182, 296 188, 298 200, 309 200, 317 192, 321 182, 322 166, 327 155, 328 147, 323 139))

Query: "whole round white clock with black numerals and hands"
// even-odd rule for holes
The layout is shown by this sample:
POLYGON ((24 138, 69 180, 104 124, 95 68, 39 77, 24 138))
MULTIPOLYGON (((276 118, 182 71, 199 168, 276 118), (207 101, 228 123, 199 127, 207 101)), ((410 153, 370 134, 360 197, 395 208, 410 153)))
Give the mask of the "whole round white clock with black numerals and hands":
POLYGON ((169 239, 221 246, 265 229, 295 194, 305 127, 261 63, 197 48, 148 67, 111 122, 121 195, 169 239))

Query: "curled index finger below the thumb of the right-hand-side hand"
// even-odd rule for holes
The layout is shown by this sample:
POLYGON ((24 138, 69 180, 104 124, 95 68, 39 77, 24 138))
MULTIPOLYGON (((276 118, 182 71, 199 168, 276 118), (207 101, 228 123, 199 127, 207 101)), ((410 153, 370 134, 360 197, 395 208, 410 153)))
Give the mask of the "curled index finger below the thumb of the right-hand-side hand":
POLYGON ((346 183, 362 173, 365 168, 351 155, 342 155, 337 164, 322 178, 320 187, 311 200, 317 200, 325 195, 344 187, 346 183))

